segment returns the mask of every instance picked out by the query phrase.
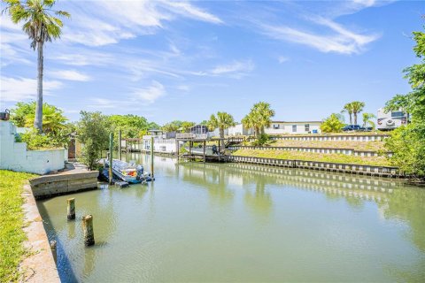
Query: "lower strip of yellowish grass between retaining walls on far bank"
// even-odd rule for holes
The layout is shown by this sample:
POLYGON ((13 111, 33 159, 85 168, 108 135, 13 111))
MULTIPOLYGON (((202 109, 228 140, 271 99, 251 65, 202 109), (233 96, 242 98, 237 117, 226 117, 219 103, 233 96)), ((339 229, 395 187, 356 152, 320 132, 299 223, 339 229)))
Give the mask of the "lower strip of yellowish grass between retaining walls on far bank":
POLYGON ((284 150, 261 150, 261 149, 239 149, 233 153, 234 156, 241 157, 265 157, 277 159, 296 159, 305 161, 330 162, 341 164, 361 164, 375 166, 390 166, 390 162, 385 157, 356 157, 344 154, 313 153, 303 151, 284 150))

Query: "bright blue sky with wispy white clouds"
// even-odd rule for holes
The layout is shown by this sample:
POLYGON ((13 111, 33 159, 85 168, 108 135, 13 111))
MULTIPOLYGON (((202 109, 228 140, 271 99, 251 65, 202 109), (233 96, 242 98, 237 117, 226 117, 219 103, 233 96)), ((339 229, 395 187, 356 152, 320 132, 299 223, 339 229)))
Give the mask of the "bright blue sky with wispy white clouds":
MULTIPOLYGON (((374 112, 409 91, 420 1, 58 1, 62 38, 45 47, 44 101, 136 114, 159 124, 240 120, 253 103, 276 120, 321 120, 344 103, 374 112)), ((1 16, 1 108, 36 94, 36 52, 1 16)), ((346 119, 348 121, 348 119, 346 119)))

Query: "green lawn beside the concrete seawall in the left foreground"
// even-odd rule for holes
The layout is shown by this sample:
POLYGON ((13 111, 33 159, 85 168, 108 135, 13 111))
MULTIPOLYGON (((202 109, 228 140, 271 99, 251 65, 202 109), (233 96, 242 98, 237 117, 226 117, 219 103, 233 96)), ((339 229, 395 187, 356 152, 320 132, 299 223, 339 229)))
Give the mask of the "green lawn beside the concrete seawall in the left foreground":
POLYGON ((22 187, 34 174, 0 170, 0 282, 19 281, 26 234, 22 187))

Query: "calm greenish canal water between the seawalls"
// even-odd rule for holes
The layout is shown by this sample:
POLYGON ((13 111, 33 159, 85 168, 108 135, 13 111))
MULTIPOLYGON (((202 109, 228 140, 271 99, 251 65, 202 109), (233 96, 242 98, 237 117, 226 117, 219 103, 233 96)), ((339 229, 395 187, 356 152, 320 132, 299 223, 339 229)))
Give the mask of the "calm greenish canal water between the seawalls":
POLYGON ((37 203, 63 282, 425 281, 425 188, 154 158, 155 182, 73 194, 75 221, 70 195, 37 203))

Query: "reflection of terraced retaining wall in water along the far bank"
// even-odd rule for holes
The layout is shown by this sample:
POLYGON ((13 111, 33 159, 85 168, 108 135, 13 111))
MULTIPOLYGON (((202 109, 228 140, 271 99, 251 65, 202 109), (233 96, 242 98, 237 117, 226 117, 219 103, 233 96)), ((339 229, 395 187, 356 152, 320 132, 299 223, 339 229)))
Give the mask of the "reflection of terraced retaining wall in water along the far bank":
MULTIPOLYGON (((183 164, 186 166, 185 164, 183 164)), ((187 164, 193 175, 193 170, 211 171, 212 174, 221 178, 240 179, 238 184, 255 182, 259 177, 264 179, 263 185, 290 186, 300 189, 317 191, 329 195, 339 195, 349 198, 358 198, 375 203, 386 202, 388 195, 392 195, 394 189, 402 186, 400 182, 389 179, 377 179, 368 176, 352 174, 317 172, 305 169, 267 167, 251 164, 230 163, 225 167, 216 164, 187 164), (214 174, 215 172, 215 174, 214 174), (224 175, 220 175, 223 172, 224 175)), ((208 178, 204 178, 208 181, 208 178)), ((217 180, 210 180, 214 183, 217 180)), ((220 181, 219 181, 220 183, 220 181)))

